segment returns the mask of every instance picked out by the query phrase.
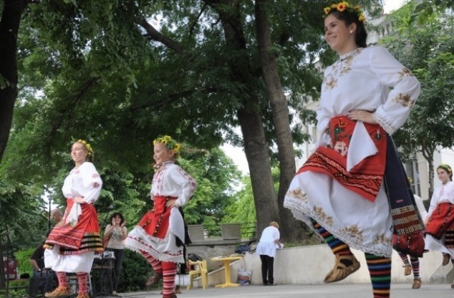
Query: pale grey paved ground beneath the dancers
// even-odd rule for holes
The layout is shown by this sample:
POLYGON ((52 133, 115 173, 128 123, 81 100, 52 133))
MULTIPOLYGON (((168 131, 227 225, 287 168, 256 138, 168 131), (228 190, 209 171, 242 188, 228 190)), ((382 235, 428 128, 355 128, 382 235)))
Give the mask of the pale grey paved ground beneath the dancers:
MULTIPOLYGON (((120 294, 128 298, 160 298, 160 291, 135 292, 120 294)), ((219 289, 192 288, 189 291, 182 290, 178 298, 199 297, 235 297, 235 298, 372 298, 370 285, 247 285, 219 289)), ((411 289, 411 285, 394 284, 391 287, 391 298, 453 298, 454 289, 450 284, 423 284, 421 289, 411 289)))

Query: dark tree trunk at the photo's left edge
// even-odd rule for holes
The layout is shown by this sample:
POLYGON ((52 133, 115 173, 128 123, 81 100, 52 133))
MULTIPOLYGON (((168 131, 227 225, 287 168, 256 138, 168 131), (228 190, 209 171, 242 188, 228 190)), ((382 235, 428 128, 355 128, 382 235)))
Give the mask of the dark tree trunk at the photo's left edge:
POLYGON ((0 21, 0 161, 8 143, 17 98, 17 35, 26 1, 4 0, 0 21), (1 82, 4 86, 1 86, 1 82))

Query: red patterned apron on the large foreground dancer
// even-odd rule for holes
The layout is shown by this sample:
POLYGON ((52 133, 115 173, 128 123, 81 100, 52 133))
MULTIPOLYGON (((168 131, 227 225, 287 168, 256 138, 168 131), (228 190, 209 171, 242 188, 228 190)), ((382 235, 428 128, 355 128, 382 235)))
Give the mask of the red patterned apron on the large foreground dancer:
POLYGON ((370 202, 374 202, 383 182, 387 148, 386 133, 378 125, 364 123, 378 152, 365 158, 348 171, 348 148, 356 123, 346 116, 332 118, 329 124, 331 145, 319 146, 297 174, 312 171, 330 175, 343 187, 356 192, 370 202))

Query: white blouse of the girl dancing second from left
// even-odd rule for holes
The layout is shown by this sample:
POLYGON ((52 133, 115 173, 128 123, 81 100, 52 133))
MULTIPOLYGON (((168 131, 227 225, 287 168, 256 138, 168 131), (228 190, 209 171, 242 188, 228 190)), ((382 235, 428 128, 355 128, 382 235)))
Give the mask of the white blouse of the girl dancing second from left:
POLYGON ((183 206, 194 194, 197 183, 187 172, 175 162, 168 161, 162 164, 153 176, 151 185, 151 199, 154 197, 176 197, 177 206, 183 206))

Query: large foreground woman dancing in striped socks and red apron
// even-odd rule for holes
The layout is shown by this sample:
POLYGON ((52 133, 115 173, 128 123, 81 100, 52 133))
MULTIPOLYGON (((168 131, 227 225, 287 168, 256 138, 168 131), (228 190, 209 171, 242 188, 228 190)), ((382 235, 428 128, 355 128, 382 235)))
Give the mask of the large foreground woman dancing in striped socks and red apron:
POLYGON ((374 297, 389 297, 393 230, 415 233, 423 246, 423 223, 389 137, 409 115, 419 82, 386 49, 366 48, 360 6, 343 1, 324 11, 325 39, 339 59, 324 72, 318 148, 292 180, 284 206, 333 251, 325 282, 359 269, 353 247, 365 253, 374 297))

